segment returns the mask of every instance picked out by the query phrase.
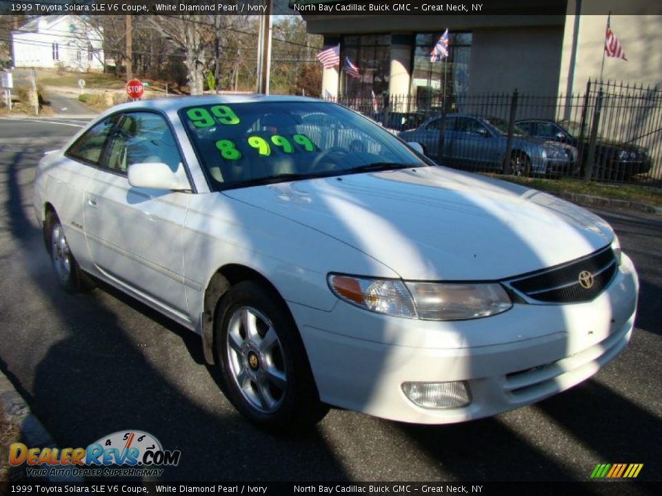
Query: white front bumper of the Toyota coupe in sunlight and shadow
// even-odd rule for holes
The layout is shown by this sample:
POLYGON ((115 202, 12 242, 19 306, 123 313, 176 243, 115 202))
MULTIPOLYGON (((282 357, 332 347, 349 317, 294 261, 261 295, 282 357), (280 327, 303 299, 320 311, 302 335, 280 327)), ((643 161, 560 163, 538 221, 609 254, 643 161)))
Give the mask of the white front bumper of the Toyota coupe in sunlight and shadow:
POLYGON ((543 400, 590 378, 632 335, 639 280, 623 262, 600 296, 580 304, 515 304, 462 322, 392 318, 338 302, 290 304, 323 402, 377 417, 445 424, 543 400), (424 409, 403 382, 463 381, 472 401, 424 409))

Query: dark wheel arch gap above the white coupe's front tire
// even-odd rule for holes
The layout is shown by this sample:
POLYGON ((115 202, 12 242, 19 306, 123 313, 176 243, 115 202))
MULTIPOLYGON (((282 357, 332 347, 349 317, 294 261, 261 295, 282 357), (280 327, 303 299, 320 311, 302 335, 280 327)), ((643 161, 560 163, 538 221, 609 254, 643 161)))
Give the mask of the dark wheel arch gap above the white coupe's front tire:
MULTIPOLYGON (((239 282, 246 280, 260 282, 274 291, 274 294, 277 294, 282 302, 285 303, 285 298, 281 296, 277 287, 275 287, 268 278, 256 269, 241 264, 228 264, 219 267, 219 269, 214 272, 214 275, 210 278, 208 285, 205 288, 202 317, 200 321, 203 352, 205 360, 210 365, 216 362, 216 359, 214 358, 214 319, 216 317, 217 303, 228 289, 237 285, 239 282)), ((285 304, 285 307, 287 307, 287 304, 285 304)))

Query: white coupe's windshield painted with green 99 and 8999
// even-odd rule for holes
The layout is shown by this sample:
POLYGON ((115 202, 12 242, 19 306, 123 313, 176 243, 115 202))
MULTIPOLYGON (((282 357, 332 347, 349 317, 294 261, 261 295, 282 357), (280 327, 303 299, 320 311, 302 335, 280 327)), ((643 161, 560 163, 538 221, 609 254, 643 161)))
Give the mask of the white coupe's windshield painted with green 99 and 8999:
POLYGON ((216 190, 428 165, 378 125, 332 103, 197 105, 179 116, 216 190))

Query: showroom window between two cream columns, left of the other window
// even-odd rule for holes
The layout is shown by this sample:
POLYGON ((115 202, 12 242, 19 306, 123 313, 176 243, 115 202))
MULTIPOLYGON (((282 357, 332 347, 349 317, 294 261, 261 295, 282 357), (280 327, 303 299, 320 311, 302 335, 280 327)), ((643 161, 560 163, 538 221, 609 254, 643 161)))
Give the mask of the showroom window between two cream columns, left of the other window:
POLYGON ((345 36, 341 47, 341 93, 352 98, 365 98, 373 91, 376 95, 388 92, 390 34, 345 36), (354 78, 345 72, 345 57, 349 57, 350 61, 357 65, 359 78, 354 78))

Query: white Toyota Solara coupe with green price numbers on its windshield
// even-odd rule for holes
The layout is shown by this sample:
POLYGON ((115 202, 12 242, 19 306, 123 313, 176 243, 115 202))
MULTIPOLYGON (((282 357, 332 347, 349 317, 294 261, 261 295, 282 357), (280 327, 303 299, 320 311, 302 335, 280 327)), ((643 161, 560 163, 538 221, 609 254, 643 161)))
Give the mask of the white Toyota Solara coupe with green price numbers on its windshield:
POLYGON ((34 185, 61 285, 103 280, 199 333, 265 428, 326 405, 494 415, 590 378, 632 335, 639 282, 605 221, 438 167, 333 103, 120 105, 34 185))

